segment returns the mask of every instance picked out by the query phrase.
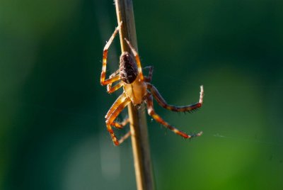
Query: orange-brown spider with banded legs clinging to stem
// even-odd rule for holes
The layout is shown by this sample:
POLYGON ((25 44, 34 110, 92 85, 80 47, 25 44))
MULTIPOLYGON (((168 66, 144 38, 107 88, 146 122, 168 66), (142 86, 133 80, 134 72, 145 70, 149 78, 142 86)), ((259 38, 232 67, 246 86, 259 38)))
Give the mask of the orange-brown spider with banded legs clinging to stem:
POLYGON ((116 122, 115 119, 121 113, 121 111, 131 102, 132 104, 134 104, 134 106, 136 106, 136 108, 139 108, 139 106, 143 102, 145 102, 149 116, 154 118, 154 120, 156 120, 158 123, 164 125, 166 128, 172 130, 173 133, 176 133, 183 138, 193 138, 195 136, 202 135, 202 132, 194 135, 187 135, 183 131, 178 130, 177 128, 164 121, 163 118, 158 116, 158 114, 156 114, 156 112, 154 111, 153 99, 155 98, 160 106, 168 110, 177 112, 190 112, 202 106, 202 98, 204 95, 203 87, 200 86, 200 101, 195 104, 188 106, 171 106, 167 104, 161 94, 159 94, 156 87, 151 84, 153 67, 144 67, 146 69, 149 69, 149 74, 147 76, 144 76, 141 69, 141 61, 139 59, 139 55, 126 38, 125 41, 127 42, 127 45, 129 45, 129 49, 132 51, 134 57, 130 54, 130 52, 123 52, 120 56, 119 69, 111 74, 108 79, 105 79, 108 48, 110 47, 112 40, 115 38, 115 35, 118 33, 121 25, 122 22, 120 22, 117 28, 115 28, 114 33, 112 33, 108 43, 106 43, 103 49, 103 66, 100 76, 100 84, 107 85, 107 91, 109 94, 117 91, 117 89, 120 89, 121 87, 123 87, 124 89, 123 93, 117 98, 114 104, 112 104, 111 108, 105 116, 106 127, 108 132, 110 133, 114 145, 120 145, 120 143, 122 143, 130 135, 129 131, 124 137, 118 140, 112 130, 112 127, 121 129, 125 125, 127 125, 127 123, 129 123, 129 118, 126 118, 125 121, 122 121, 121 123, 116 122), (112 86, 114 82, 116 82, 116 84, 112 86))

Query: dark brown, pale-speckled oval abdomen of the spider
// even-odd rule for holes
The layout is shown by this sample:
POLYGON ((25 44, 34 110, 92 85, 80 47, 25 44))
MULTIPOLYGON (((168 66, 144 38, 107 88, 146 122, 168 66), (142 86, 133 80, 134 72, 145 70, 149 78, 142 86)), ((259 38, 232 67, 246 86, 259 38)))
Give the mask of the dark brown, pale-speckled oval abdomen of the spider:
POLYGON ((122 53, 120 57, 120 77, 123 82, 131 84, 137 78, 137 64, 129 52, 122 53))

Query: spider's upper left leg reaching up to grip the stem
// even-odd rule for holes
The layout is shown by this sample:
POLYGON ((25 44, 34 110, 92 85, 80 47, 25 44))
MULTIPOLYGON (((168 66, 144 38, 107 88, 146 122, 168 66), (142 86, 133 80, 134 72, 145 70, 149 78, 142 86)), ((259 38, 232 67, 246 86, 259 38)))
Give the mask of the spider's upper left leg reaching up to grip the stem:
POLYGON ((113 39, 115 38, 115 35, 118 33, 121 25, 122 25, 122 21, 119 23, 117 28, 115 28, 114 33, 111 35, 108 43, 106 43, 106 45, 105 45, 105 47, 103 49, 102 72, 101 72, 101 75, 100 75, 100 84, 101 85, 110 84, 110 83, 116 82, 117 80, 120 79, 120 75, 116 75, 115 77, 112 77, 112 78, 109 78, 109 79, 105 79, 105 76, 106 76, 106 65, 107 65, 108 48, 110 47, 113 39))

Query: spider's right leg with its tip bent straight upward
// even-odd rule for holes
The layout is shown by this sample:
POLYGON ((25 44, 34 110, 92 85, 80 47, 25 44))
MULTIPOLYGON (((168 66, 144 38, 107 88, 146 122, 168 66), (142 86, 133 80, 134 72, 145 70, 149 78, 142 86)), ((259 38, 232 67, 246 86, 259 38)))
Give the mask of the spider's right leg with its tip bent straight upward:
POLYGON ((202 106, 202 99, 204 96, 204 91, 203 91, 203 86, 200 86, 200 101, 195 103, 195 104, 191 104, 191 105, 187 105, 187 106, 172 106, 166 103, 166 101, 163 99, 163 97, 161 96, 161 94, 159 94, 158 90, 156 89, 156 87, 152 84, 147 84, 147 88, 151 91, 151 93, 154 95, 154 98, 156 99, 156 101, 158 102, 158 104, 160 106, 162 106, 163 108, 166 108, 168 110, 171 111, 194 111, 197 108, 200 108, 202 106))

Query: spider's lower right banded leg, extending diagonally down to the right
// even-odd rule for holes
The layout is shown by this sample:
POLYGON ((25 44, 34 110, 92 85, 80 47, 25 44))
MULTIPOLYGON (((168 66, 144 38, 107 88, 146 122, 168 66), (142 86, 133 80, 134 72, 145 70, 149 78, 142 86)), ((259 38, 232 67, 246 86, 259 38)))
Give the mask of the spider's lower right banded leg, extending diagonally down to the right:
POLYGON ((162 125, 164 125, 166 128, 172 130, 175 134, 182 136, 183 138, 193 138, 195 136, 200 136, 202 135, 202 132, 197 133, 195 135, 187 135, 186 133, 184 133, 183 131, 178 130, 177 128, 173 127, 172 125, 170 125, 169 123, 167 123, 166 121, 163 120, 163 118, 161 118, 160 116, 158 116, 156 114, 156 112, 154 111, 154 101, 153 101, 153 97, 151 94, 147 94, 146 95, 146 106, 147 106, 147 112, 149 113, 149 116, 151 116, 152 118, 154 118, 158 123, 161 123, 162 125))

